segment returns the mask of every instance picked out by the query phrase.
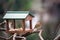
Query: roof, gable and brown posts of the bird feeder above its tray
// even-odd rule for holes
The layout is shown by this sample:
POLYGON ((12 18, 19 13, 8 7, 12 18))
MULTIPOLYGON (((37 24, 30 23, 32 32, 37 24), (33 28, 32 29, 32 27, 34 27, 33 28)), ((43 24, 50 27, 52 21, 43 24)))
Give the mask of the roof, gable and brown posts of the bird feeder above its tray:
POLYGON ((29 11, 7 11, 3 19, 6 20, 6 29, 16 29, 16 20, 21 20, 23 31, 26 29, 25 21, 29 21, 29 28, 32 29, 32 18, 29 11))

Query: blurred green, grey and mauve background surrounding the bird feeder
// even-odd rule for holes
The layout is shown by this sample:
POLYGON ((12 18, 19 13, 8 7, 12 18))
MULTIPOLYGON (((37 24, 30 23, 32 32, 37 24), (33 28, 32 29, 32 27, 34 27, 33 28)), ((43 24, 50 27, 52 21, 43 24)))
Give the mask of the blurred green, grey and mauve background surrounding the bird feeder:
MULTIPOLYGON (((60 34, 60 1, 59 0, 0 0, 0 22, 4 11, 31 11, 38 21, 43 23, 42 36, 45 40, 53 40, 60 34)), ((5 32, 0 32, 1 34, 5 32)), ((2 34, 3 35, 3 34, 2 34)), ((40 40, 38 33, 27 36, 27 40, 40 40)))

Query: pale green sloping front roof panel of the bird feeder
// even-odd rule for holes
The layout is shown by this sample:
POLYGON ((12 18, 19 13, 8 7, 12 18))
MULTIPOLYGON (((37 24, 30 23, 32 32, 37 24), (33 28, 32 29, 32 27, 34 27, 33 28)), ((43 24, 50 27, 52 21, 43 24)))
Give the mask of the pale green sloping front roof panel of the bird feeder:
POLYGON ((29 11, 7 11, 3 19, 25 19, 29 11))

